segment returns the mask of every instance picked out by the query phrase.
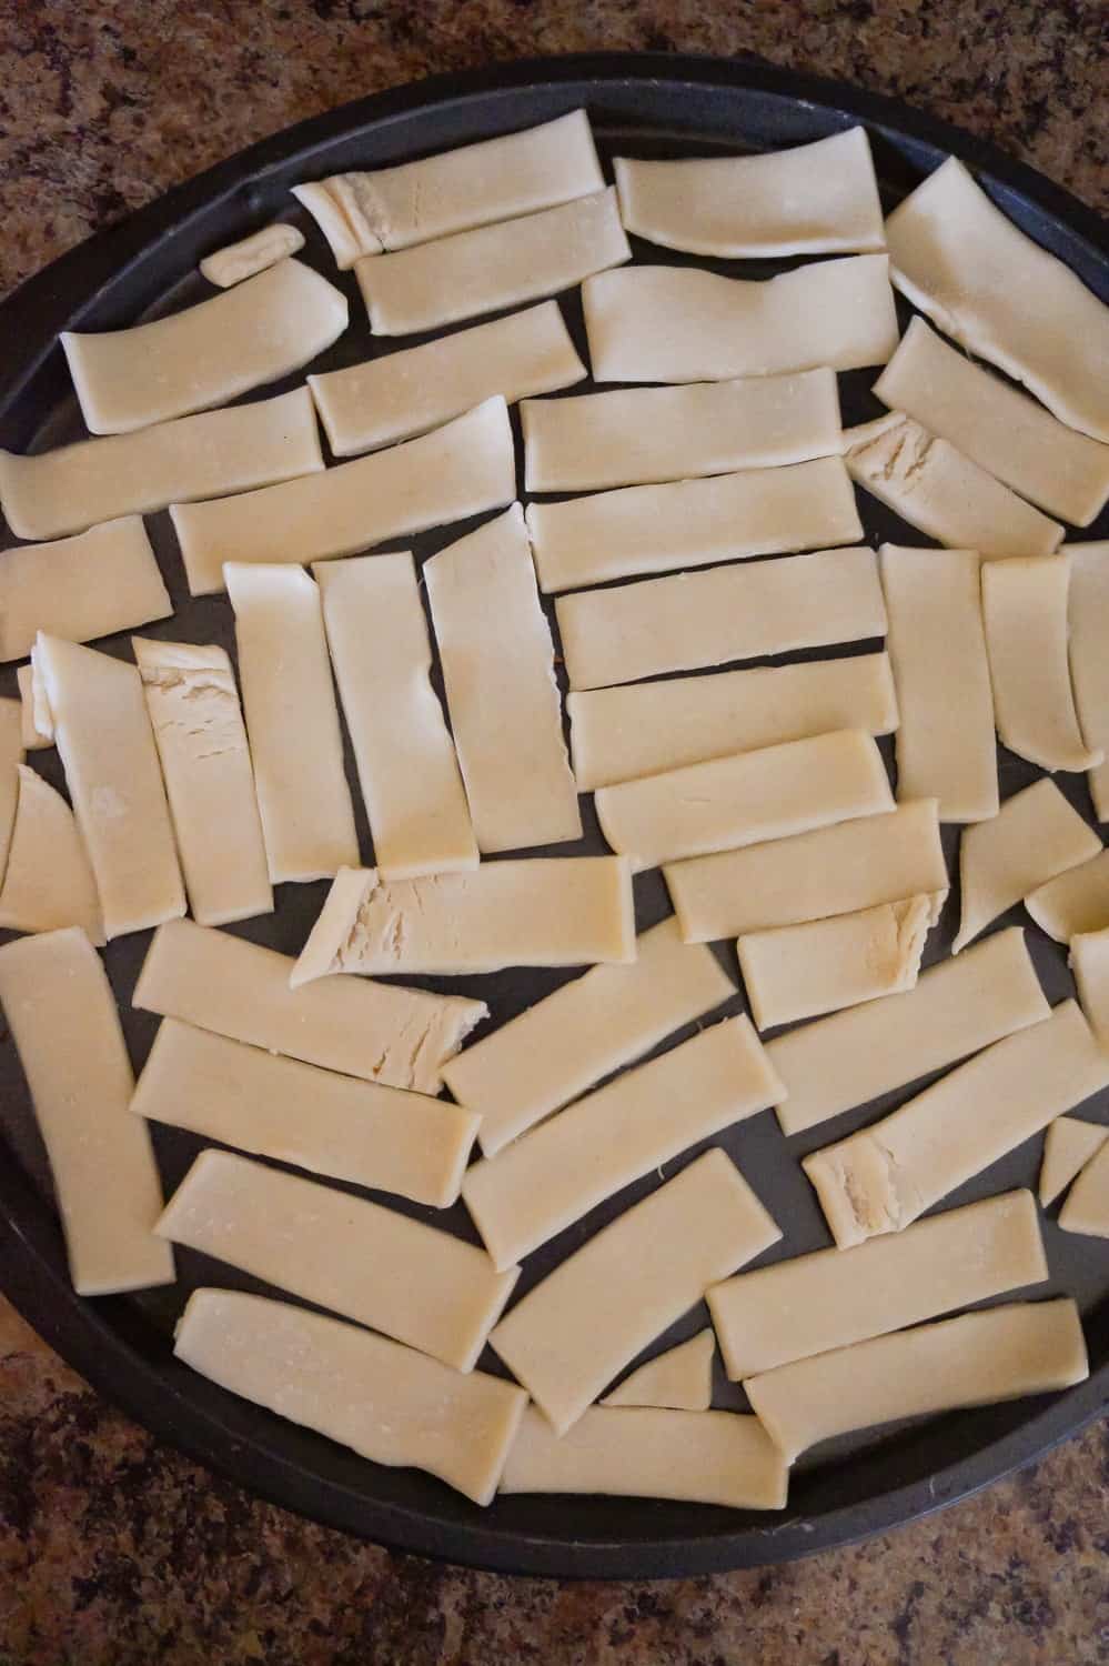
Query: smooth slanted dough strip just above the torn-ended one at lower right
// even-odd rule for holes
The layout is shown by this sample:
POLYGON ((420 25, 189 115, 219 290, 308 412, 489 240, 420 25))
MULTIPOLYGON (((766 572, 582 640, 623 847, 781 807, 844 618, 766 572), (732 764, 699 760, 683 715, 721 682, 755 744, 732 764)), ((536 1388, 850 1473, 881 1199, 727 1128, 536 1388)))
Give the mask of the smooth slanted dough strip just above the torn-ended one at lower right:
POLYGON ((916 988, 848 1008, 766 1045, 786 1085, 783 1133, 868 1105, 1002 1036, 1037 1025, 1051 1008, 1017 926, 996 931, 964 958, 923 971, 916 988))

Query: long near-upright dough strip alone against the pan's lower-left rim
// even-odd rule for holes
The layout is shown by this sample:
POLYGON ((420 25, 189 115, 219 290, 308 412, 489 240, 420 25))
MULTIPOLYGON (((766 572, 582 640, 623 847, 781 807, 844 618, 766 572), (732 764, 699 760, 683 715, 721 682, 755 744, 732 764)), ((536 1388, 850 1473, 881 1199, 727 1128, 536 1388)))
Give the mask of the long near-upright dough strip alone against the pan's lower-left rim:
POLYGON ((173 1281, 162 1186, 100 956, 77 926, 0 948, 0 1005, 27 1076, 80 1296, 173 1281))

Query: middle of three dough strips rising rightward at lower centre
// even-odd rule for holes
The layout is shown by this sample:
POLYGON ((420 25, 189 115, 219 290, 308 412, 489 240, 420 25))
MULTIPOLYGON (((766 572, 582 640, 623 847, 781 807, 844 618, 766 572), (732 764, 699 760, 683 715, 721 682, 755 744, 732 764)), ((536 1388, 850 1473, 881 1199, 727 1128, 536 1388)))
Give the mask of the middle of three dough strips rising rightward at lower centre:
POLYGON ((513 1266, 698 1140, 783 1096, 749 1018, 726 1018, 475 1163, 463 1200, 493 1264, 513 1266))

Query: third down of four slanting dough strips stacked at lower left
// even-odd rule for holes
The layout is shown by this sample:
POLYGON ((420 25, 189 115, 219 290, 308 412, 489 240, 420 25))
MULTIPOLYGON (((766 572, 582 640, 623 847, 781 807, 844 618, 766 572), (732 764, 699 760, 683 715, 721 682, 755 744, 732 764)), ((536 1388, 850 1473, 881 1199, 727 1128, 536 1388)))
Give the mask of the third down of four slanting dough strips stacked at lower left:
POLYGON ((438 1226, 215 1150, 200 1153, 155 1231, 456 1371, 473 1371, 520 1276, 438 1226))

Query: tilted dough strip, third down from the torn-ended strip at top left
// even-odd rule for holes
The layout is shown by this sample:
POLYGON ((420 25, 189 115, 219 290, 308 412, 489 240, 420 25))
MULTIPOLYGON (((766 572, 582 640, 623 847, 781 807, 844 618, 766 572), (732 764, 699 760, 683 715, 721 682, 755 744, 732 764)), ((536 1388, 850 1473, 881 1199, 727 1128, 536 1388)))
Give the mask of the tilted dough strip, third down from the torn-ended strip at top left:
POLYGON ((308 377, 335 456, 438 428, 500 393, 508 405, 588 375, 558 302, 308 377))

